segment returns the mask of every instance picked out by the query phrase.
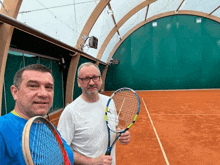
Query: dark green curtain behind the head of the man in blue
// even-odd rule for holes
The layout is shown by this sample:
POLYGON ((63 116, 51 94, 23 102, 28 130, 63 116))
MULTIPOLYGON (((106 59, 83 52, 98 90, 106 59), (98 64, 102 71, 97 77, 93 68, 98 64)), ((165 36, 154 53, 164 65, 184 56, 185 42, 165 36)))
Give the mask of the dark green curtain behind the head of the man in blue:
POLYGON ((9 113, 14 108, 15 102, 11 95, 10 86, 13 84, 13 77, 15 73, 23 66, 27 66, 29 64, 36 64, 36 63, 43 64, 49 67, 50 69, 52 69, 53 77, 55 80, 55 86, 54 86, 54 102, 53 102, 53 107, 50 109, 50 112, 63 108, 64 102, 63 102, 62 74, 59 72, 58 64, 48 59, 36 58, 32 56, 21 56, 19 53, 9 52, 6 63, 6 69, 5 69, 5 77, 4 77, 6 93, 4 93, 3 90, 1 115, 9 113), (5 106, 5 98, 6 98, 7 106, 5 106))

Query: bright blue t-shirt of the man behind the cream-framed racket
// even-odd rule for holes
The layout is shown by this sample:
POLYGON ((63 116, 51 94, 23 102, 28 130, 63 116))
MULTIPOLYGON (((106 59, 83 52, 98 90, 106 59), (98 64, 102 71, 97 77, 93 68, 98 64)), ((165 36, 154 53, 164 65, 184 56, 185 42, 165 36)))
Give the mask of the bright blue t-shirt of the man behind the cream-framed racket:
MULTIPOLYGON (((12 113, 0 117, 0 165, 26 164, 22 153, 22 133, 26 123, 26 119, 12 113)), ((63 144, 73 165, 73 152, 65 140, 63 144)))

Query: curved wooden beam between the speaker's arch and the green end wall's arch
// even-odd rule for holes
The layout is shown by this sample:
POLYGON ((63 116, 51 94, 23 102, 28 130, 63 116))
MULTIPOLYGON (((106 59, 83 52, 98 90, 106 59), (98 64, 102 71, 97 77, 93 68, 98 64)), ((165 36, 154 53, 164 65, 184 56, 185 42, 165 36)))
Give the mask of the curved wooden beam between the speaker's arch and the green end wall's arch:
POLYGON ((137 5, 136 7, 134 7, 131 11, 129 11, 118 23, 117 25, 110 31, 110 33, 108 34, 108 36, 106 37, 105 41, 103 42, 101 48, 99 49, 98 55, 97 55, 97 59, 101 59, 103 52, 105 51, 108 43, 110 42, 110 40, 112 39, 112 37, 114 36, 114 34, 118 31, 118 29, 130 18, 132 17, 135 13, 137 13, 138 11, 140 11, 141 9, 143 9, 144 7, 148 6, 149 4, 155 2, 157 0, 146 0, 142 3, 140 3, 139 5, 137 5))

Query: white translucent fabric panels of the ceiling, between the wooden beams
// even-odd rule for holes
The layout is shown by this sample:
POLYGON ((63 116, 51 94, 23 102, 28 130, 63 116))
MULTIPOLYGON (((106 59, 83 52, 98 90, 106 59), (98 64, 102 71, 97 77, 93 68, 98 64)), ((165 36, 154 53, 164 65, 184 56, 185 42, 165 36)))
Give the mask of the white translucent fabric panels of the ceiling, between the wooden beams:
MULTIPOLYGON (((101 0, 23 0, 17 20, 39 31, 75 47, 88 18, 101 0)), ((98 38, 98 48, 93 49, 84 45, 83 51, 97 57, 100 47, 109 32, 115 27, 111 14, 116 23, 119 22, 135 6, 146 0, 111 0, 90 31, 89 37, 98 38)), ((153 1, 153 0, 152 0, 153 1)), ((175 11, 183 0, 157 0, 150 4, 147 19, 157 14, 175 11)), ((179 10, 192 10, 211 13, 219 7, 219 0, 185 0, 179 10)), ((115 33, 103 52, 101 60, 107 62, 110 52, 131 28, 145 20, 147 7, 139 10, 130 17, 115 33)), ((220 8, 212 13, 220 17, 220 8)))

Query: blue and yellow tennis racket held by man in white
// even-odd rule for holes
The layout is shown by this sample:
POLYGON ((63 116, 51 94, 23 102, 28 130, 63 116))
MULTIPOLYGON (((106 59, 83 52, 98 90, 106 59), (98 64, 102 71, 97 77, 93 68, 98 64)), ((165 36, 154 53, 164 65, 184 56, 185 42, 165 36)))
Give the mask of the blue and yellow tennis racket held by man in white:
POLYGON ((131 88, 120 88, 111 95, 105 110, 105 121, 108 128, 108 148, 105 155, 111 155, 112 147, 121 134, 131 128, 139 111, 140 99, 131 88), (110 130, 117 133, 111 145, 110 130))

